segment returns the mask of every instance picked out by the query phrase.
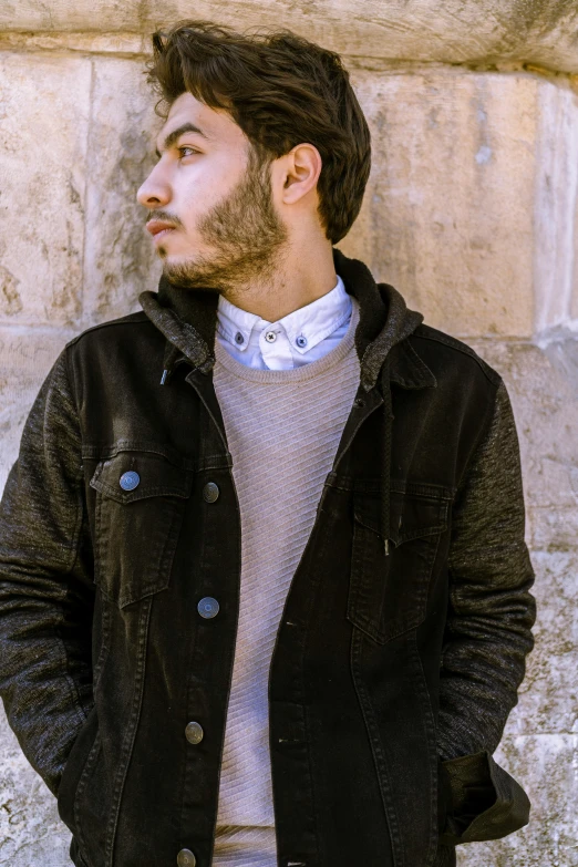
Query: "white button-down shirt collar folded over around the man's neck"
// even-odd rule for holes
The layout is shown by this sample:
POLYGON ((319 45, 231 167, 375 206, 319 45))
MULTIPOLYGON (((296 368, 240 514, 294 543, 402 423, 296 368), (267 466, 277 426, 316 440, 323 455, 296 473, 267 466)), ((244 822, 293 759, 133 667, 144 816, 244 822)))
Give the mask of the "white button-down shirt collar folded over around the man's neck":
POLYGON ((291 349, 303 354, 332 334, 350 316, 351 297, 345 290, 343 280, 337 275, 337 283, 331 291, 276 322, 268 322, 256 313, 241 310, 219 295, 217 329, 221 337, 242 351, 248 348, 252 334, 258 340, 264 329, 280 326, 287 334, 291 349), (242 337, 242 341, 239 336, 242 337))

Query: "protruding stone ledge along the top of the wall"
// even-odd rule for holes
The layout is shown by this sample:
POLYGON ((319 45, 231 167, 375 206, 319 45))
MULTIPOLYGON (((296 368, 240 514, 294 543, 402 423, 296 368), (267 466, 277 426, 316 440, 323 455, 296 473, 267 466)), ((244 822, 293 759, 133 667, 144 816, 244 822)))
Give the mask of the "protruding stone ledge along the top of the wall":
POLYGON ((578 71, 578 10, 567 0, 4 0, 0 30, 148 31, 183 18, 237 29, 288 27, 328 48, 368 58, 484 63, 522 59, 578 71))

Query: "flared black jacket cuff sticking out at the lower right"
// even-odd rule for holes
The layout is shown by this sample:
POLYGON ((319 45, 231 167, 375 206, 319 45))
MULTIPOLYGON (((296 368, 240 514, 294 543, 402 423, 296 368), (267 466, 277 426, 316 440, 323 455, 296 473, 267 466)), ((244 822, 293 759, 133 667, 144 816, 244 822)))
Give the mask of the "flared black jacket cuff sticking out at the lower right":
POLYGON ((440 787, 447 807, 444 845, 499 839, 528 824, 528 796, 487 751, 441 762, 440 787))

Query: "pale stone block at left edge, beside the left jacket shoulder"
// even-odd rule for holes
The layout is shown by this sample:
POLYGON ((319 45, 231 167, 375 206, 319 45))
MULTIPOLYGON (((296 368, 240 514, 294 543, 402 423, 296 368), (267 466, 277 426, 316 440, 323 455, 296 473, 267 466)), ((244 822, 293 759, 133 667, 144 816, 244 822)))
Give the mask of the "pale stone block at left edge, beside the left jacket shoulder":
POLYGON ((74 331, 0 327, 0 492, 42 382, 74 331))

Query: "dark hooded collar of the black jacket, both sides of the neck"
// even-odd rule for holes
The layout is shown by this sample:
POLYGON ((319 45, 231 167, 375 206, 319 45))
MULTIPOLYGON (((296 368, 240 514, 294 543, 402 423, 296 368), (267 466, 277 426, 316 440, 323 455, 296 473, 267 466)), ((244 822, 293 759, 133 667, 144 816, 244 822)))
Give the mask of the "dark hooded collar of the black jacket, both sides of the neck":
MULTIPOLYGON (((360 306, 355 350, 361 388, 368 392, 375 385, 386 357, 392 382, 405 389, 436 385, 434 374, 406 339, 421 324, 423 316, 409 310, 392 286, 376 283, 364 262, 350 259, 337 247, 333 247, 333 262, 347 291, 360 306)), ((146 316, 167 339, 163 383, 180 361, 189 361, 203 373, 213 369, 217 292, 186 289, 162 275, 158 292, 146 290, 141 292, 138 300, 146 316)))

